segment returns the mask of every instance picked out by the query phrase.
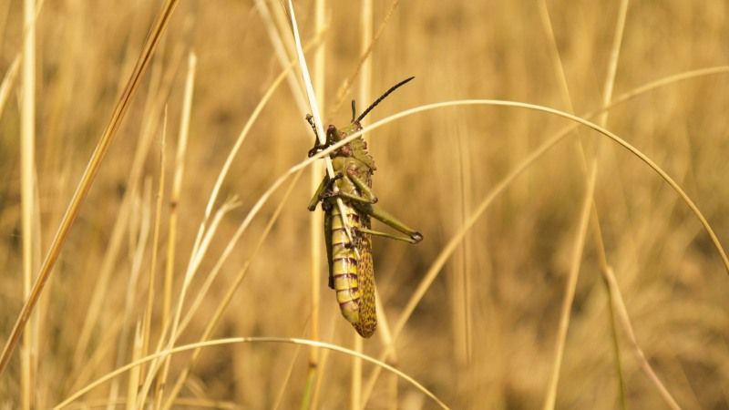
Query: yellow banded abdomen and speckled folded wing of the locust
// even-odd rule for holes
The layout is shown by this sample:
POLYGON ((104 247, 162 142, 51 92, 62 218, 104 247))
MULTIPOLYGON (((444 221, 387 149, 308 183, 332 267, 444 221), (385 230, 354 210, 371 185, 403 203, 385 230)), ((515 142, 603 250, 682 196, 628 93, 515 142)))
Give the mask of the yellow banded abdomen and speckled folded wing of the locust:
POLYGON ((357 333, 362 337, 370 337, 377 327, 372 242, 369 235, 356 230, 359 227, 369 228, 370 220, 346 203, 344 210, 349 226, 353 229, 354 243, 344 231, 339 207, 334 206, 329 215, 332 219, 330 263, 332 263, 336 302, 339 303, 344 318, 352 323, 357 333))

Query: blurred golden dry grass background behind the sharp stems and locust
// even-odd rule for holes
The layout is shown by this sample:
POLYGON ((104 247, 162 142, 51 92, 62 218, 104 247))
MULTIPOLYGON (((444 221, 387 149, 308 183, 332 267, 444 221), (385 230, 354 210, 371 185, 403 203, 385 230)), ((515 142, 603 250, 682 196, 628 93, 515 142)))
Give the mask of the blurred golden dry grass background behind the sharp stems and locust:
MULTIPOLYGON (((365 123, 406 108, 461 98, 523 101, 578 115, 598 109, 619 3, 546 2, 552 43, 540 2, 401 1, 373 47, 372 96, 405 77, 416 80, 388 97, 365 123), (560 61, 550 51, 553 46, 560 61), (567 90, 560 85, 560 62, 567 90)), ((34 216, 39 236, 33 248, 34 274, 161 5, 160 1, 64 0, 46 1, 39 8, 34 216)), ((282 7, 278 2, 269 6, 282 7)), ((295 2, 295 7, 304 42, 310 42, 315 35, 313 2, 295 2)), ((390 2, 374 2, 375 28, 389 7, 390 2)), ((328 26, 322 41, 327 124, 346 124, 350 118, 346 101, 356 97, 350 90, 344 104, 331 109, 337 88, 353 75, 359 60, 359 8, 360 2, 331 2, 326 8, 328 26)), ((726 2, 720 0, 631 2, 613 96, 662 77, 726 65, 728 13, 726 2)), ((22 53, 23 27, 23 2, 0 1, 3 77, 22 53)), ((131 361, 134 323, 141 320, 147 301, 152 252, 150 237, 144 246, 139 241, 154 223, 165 112, 166 189, 154 269, 159 292, 167 263, 169 187, 187 61, 194 52, 190 137, 174 238, 173 293, 180 294, 182 274, 222 163, 281 72, 271 28, 252 2, 180 2, 36 308, 32 384, 23 386, 20 349, 0 375, 0 401, 6 408, 20 406, 19 392, 28 390, 34 407, 50 407, 119 363, 131 361), (140 162, 143 166, 130 178, 130 164, 144 144, 149 149, 140 162), (126 222, 120 227, 118 255, 108 259, 112 231, 122 214, 126 222), (105 258, 108 283, 99 288, 105 258), (135 263, 141 263, 141 273, 130 285, 135 263), (125 309, 128 287, 130 310, 125 309), (86 343, 79 346, 95 298, 98 318, 87 330, 86 343), (131 315, 127 319, 125 312, 131 315)), ((24 302, 20 76, 14 83, 0 112, 2 343, 24 302)), ((197 294, 252 205, 311 148, 311 129, 292 96, 286 83, 275 91, 233 162, 218 205, 237 196, 240 207, 221 220, 210 254, 190 283, 191 295, 197 294)), ((369 102, 358 101, 358 107, 369 102)), ((612 108, 606 124, 676 179, 724 243, 729 241, 729 185, 724 180, 729 175, 727 109, 729 74, 724 72, 676 82, 632 99, 612 108)), ((381 315, 388 322, 395 322, 438 252, 477 203, 541 142, 568 124, 523 109, 475 106, 427 111, 372 133, 374 188, 380 205, 426 238, 417 246, 375 240, 375 274, 385 308, 381 315)), ((729 278, 720 257, 701 224, 662 179, 628 151, 585 128, 515 179, 467 233, 397 338, 394 364, 453 408, 526 409, 542 404, 588 179, 578 140, 586 152, 604 140, 598 151, 595 206, 607 260, 643 353, 679 405, 729 408, 725 302, 729 278)), ((306 204, 312 190, 308 178, 303 178, 288 198, 282 191, 252 220, 177 344, 199 340, 247 261, 249 272, 213 337, 311 337, 312 214, 306 204), (266 219, 282 201, 280 217, 253 254, 266 219)), ((595 241, 591 234, 587 238, 560 371, 558 408, 620 407, 609 299, 595 241)), ((352 346, 354 331, 338 312, 334 293, 326 288, 321 258, 319 337, 352 346)), ((156 295, 152 313, 152 344, 161 333, 160 297, 156 295)), ((661 395, 642 373, 624 334, 618 336, 628 407, 662 408, 661 395)), ((382 350, 377 334, 364 342, 364 354, 377 357, 382 350)), ((170 379, 189 360, 190 354, 175 356, 170 379)), ((323 358, 319 408, 349 405, 351 365, 347 355, 323 358)), ((305 351, 294 345, 212 347, 200 355, 180 393, 198 401, 180 402, 176 408, 213 402, 222 408, 271 408, 279 399, 280 408, 293 408, 302 400, 306 368, 305 351)), ((364 364, 365 378, 372 369, 372 364, 364 364)), ((118 383, 126 386, 128 379, 120 377, 118 383)), ((110 392, 109 384, 103 384, 80 402, 105 405, 110 392)), ((123 401, 118 404, 123 405, 123 401)), ((434 404, 402 381, 394 393, 390 376, 382 375, 366 408, 393 405, 432 408, 434 404)))

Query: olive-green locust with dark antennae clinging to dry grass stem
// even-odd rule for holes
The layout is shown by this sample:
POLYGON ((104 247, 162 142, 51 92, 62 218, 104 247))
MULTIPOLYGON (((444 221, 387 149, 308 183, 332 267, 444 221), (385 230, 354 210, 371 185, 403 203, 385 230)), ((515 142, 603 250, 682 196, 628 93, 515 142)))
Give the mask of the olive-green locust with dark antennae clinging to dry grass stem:
MULTIPOLYGON (((352 100, 350 124, 344 128, 329 125, 323 144, 319 142, 313 117, 307 115, 306 120, 313 128, 315 138, 313 148, 309 150, 309 157, 361 130, 362 119, 385 97, 413 78, 406 78, 390 87, 359 116, 356 116, 355 102, 352 100)), ((368 338, 375 333, 377 327, 372 237, 417 243, 423 240, 423 235, 375 206, 377 197, 372 190, 375 160, 367 152, 367 143, 363 138, 354 138, 332 151, 329 157, 332 159, 334 178, 329 176, 323 178, 309 202, 308 209, 316 210, 316 206, 322 203, 326 256, 329 262, 329 287, 336 292, 336 301, 344 319, 352 323, 354 330, 362 337, 368 338), (337 199, 342 200, 344 207, 337 206, 337 199), (399 233, 373 231, 371 229, 373 218, 384 222, 399 233), (344 220, 347 220, 349 232, 346 230, 344 220)))

